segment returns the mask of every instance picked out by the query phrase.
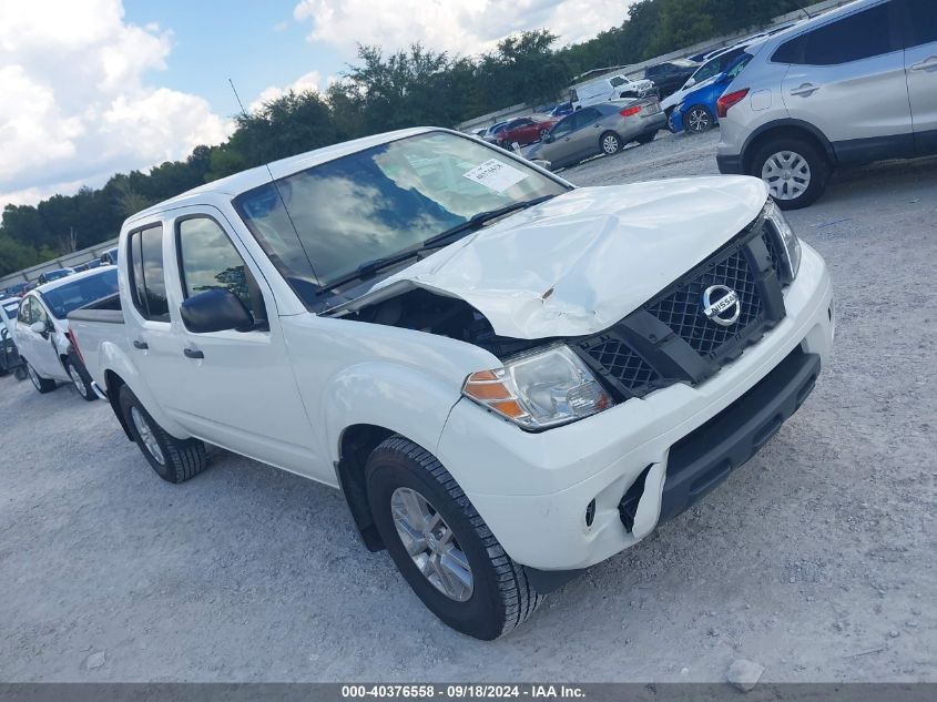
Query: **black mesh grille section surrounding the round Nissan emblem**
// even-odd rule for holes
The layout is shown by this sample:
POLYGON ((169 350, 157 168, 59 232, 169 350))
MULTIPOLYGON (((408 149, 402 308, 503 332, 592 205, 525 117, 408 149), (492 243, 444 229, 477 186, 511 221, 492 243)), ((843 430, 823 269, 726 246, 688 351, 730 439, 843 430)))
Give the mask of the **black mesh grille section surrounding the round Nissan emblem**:
POLYGON ((762 299, 744 250, 735 247, 649 304, 646 309, 697 354, 715 358, 723 355, 724 347, 736 345, 748 326, 761 319, 762 299), (732 326, 716 324, 703 314, 703 292, 711 285, 725 285, 739 295, 741 311, 739 321, 732 326))

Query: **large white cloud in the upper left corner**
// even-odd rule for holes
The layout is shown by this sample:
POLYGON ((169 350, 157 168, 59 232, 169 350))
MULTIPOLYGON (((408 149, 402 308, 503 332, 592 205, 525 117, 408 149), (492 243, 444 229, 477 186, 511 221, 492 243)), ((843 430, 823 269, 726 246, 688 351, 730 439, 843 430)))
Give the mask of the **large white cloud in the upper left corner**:
POLYGON ((184 157, 232 124, 197 95, 153 87, 172 34, 124 21, 121 0, 3 2, 0 207, 184 157))

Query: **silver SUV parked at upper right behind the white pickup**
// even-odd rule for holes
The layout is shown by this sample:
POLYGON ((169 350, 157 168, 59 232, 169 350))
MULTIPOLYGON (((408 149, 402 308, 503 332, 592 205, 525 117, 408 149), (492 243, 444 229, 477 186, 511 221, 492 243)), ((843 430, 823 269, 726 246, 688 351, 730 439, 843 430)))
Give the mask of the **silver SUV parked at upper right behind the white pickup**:
POLYGON ((836 167, 937 153, 937 0, 857 0, 750 52, 716 103, 716 161, 782 208, 836 167))

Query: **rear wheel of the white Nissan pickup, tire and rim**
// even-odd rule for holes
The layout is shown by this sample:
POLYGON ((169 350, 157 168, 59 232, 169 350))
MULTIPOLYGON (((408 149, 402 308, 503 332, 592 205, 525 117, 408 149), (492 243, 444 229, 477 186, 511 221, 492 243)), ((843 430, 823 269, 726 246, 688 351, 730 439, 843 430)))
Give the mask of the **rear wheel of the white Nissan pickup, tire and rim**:
POLYGON ((177 439, 166 433, 143 407, 136 395, 126 386, 121 386, 121 411, 123 411, 133 440, 153 470, 167 482, 184 482, 197 476, 208 465, 205 445, 198 439, 177 439), (150 433, 154 448, 147 446, 147 439, 141 434, 138 423, 150 433), (159 449, 159 450, 156 450, 159 449), (159 454, 159 455, 157 455, 159 454), (162 460, 161 460, 162 458, 162 460))

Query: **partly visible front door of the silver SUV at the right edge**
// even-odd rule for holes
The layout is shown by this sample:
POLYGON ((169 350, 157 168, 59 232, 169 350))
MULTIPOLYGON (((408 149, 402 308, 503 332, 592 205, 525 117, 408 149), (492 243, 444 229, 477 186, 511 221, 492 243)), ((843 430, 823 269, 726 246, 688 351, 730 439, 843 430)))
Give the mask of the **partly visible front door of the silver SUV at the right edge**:
POLYGON ((937 0, 905 2, 905 73, 916 153, 937 153, 937 0))

